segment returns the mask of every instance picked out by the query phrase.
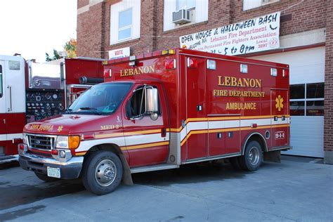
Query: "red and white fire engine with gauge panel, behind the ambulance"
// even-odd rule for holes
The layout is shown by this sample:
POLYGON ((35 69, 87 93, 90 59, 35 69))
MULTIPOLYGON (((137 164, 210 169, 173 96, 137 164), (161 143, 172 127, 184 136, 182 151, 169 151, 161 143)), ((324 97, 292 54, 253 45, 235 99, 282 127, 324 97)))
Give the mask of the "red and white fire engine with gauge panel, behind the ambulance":
POLYGON ((58 115, 91 85, 103 81, 103 60, 74 58, 58 64, 33 63, 0 55, 0 163, 18 160, 25 124, 58 115))

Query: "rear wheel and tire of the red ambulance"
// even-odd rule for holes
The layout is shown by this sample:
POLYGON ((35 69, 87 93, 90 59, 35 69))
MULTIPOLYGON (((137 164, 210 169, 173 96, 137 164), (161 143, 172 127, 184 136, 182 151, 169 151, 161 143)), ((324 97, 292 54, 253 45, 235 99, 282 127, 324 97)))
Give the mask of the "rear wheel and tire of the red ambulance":
POLYGON ((256 171, 263 162, 261 145, 257 141, 247 143, 244 156, 239 157, 239 161, 245 171, 256 171))

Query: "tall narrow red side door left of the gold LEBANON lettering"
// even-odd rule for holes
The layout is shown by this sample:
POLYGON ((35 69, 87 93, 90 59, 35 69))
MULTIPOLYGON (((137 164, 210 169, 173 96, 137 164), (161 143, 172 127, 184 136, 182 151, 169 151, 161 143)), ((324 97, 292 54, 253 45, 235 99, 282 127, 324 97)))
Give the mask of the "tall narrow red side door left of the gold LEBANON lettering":
POLYGON ((206 65, 204 59, 186 58, 187 159, 208 156, 206 65))

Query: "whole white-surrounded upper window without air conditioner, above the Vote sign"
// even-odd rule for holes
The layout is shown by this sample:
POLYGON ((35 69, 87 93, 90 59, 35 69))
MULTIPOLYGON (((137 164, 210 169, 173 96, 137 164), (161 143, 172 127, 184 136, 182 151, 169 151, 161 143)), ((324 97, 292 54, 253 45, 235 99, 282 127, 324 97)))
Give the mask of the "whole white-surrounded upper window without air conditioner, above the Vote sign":
POLYGON ((124 0, 110 8, 110 44, 140 37, 141 1, 124 0))

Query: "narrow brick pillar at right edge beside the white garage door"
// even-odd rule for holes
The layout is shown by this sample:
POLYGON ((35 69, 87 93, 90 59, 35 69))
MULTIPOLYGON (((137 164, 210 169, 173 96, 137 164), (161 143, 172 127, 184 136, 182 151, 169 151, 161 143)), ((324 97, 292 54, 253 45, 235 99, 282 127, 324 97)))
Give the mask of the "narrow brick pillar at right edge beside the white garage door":
POLYGON ((333 1, 327 4, 327 15, 331 16, 326 18, 324 151, 325 162, 333 164, 333 1))

